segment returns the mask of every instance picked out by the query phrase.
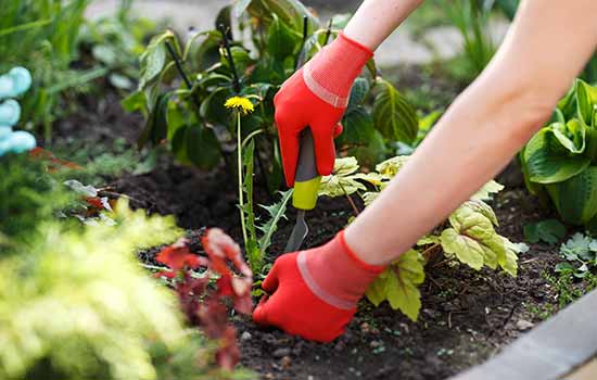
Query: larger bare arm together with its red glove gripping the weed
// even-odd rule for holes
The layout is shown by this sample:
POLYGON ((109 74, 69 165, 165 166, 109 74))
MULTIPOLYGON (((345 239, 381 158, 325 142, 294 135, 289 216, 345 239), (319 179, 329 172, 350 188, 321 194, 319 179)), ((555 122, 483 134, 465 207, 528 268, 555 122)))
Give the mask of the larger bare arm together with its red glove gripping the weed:
POLYGON ((275 263, 265 287, 271 295, 257 306, 255 321, 312 340, 339 335, 354 308, 341 309, 317 293, 323 289, 355 303, 379 268, 408 250, 509 162, 549 117, 595 50, 595 14, 594 0, 523 1, 494 60, 391 185, 344 235, 302 252, 309 280, 296 269, 296 253, 275 263))

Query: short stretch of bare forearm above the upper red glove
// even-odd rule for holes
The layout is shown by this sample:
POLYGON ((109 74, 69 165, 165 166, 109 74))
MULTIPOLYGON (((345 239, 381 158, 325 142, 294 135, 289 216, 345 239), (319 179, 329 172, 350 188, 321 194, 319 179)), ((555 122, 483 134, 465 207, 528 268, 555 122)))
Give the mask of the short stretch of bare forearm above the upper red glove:
POLYGON ((365 0, 344 34, 374 51, 422 1, 365 0))

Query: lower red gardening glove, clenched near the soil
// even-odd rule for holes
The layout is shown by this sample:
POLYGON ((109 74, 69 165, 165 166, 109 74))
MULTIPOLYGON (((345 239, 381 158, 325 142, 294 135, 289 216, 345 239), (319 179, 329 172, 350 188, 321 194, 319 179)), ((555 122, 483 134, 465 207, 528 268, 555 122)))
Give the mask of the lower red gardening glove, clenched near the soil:
POLYGON ((327 244, 284 254, 274 263, 253 320, 317 342, 331 342, 353 319, 358 300, 383 271, 364 263, 341 231, 327 244))

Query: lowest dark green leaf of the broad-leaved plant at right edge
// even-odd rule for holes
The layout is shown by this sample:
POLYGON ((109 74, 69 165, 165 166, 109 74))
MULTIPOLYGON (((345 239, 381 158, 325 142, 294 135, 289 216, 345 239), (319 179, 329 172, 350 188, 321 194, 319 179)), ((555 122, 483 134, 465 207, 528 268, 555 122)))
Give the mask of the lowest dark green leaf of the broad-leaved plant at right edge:
POLYGON ((564 221, 584 225, 597 215, 597 166, 572 178, 547 186, 547 191, 564 221))

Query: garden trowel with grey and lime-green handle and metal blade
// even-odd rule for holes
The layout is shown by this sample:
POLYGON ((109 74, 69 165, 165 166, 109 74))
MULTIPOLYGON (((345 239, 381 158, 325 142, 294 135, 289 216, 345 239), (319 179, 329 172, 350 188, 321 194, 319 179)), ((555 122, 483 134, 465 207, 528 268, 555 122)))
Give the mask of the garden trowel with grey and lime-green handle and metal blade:
POLYGON ((313 134, 307 126, 301 132, 301 148, 294 177, 294 193, 292 194, 292 205, 296 208, 296 224, 292 229, 284 252, 298 251, 309 232, 305 214, 307 211, 315 208, 320 183, 321 176, 317 173, 313 134))

